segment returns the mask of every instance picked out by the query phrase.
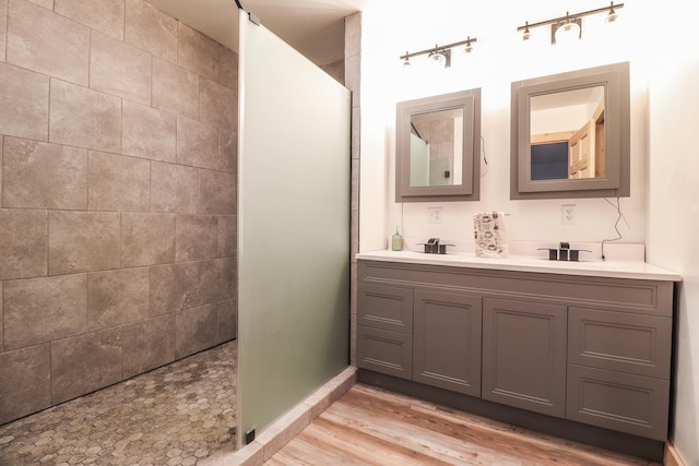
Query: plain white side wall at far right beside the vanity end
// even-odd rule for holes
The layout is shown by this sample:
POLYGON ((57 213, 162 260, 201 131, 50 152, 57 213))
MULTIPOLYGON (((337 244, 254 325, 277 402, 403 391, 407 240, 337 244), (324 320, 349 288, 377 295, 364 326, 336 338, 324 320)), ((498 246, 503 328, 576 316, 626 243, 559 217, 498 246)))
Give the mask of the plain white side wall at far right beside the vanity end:
MULTIPOLYGON (((685 3, 688 3, 687 1, 685 3)), ((682 8, 679 9, 682 11, 682 8)), ((683 275, 677 296, 675 427, 685 465, 699 465, 699 51, 667 12, 649 10, 649 222, 647 256, 683 275), (665 15, 665 17, 663 17, 665 15), (665 21, 663 21, 665 20, 665 21)))

